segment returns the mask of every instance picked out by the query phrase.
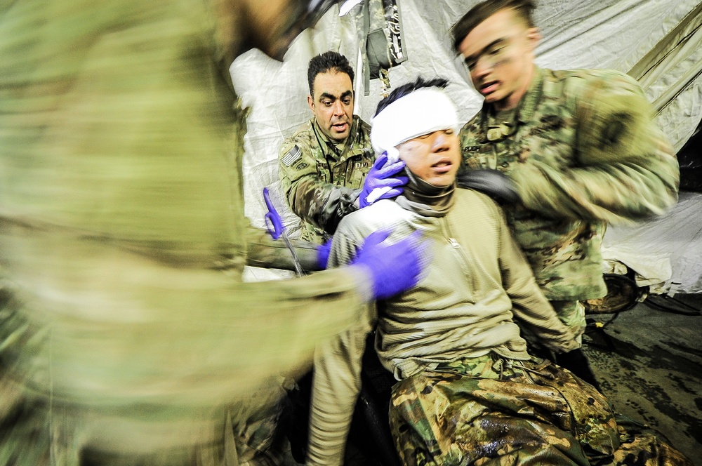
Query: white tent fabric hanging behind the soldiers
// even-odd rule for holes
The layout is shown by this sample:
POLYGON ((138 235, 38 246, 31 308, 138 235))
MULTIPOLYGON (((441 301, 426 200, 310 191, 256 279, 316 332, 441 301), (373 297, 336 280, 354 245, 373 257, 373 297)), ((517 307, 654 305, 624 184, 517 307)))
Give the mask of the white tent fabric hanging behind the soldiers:
MULTIPOLYGON (((472 89, 460 59, 451 50, 448 30, 477 0, 399 0, 405 51, 408 60, 390 70, 390 84, 399 86, 416 76, 442 76, 449 81, 448 92, 467 121, 477 112, 481 98, 472 89)), ((279 211, 284 214, 291 235, 296 236, 299 220, 289 211, 280 192, 277 175, 278 148, 284 138, 312 117, 307 107, 307 62, 314 55, 333 50, 346 55, 352 65, 359 60, 356 6, 343 18, 338 8, 324 15, 315 29, 308 29, 293 42, 283 62, 259 51, 237 58, 230 71, 235 88, 250 108, 244 196, 246 215, 253 225, 263 227, 263 187, 270 187, 279 211)), ((702 6, 691 0, 541 0, 534 20, 543 40, 536 62, 551 69, 612 68, 639 79, 658 111, 658 124, 680 149, 694 133, 702 117, 702 6)), ((364 95, 362 71, 356 68, 356 111, 369 121, 380 100, 380 81, 371 80, 364 95)), ((698 215, 701 225, 702 196, 685 198, 687 215, 698 215)), ((681 206, 682 206, 681 202, 681 206)), ((682 207, 681 207, 682 208, 682 207)), ((605 242, 608 258, 622 260, 633 269, 646 269, 649 279, 679 283, 679 291, 702 291, 702 263, 698 261, 702 241, 691 226, 684 243, 668 228, 666 219, 656 227, 640 225, 611 227, 605 242), (641 232, 640 232, 641 230, 641 232), (645 231, 644 231, 645 230, 645 231), (675 235, 668 238, 667 235, 675 235), (610 241, 610 237, 612 241, 610 241), (616 239, 615 239, 616 238, 616 239), (661 246, 665 245, 665 246, 661 246), (617 248, 627 260, 617 257, 617 248), (663 250, 661 250, 661 247, 663 250), (630 257, 625 250, 637 254, 630 257), (696 250, 686 258, 684 251, 696 250), (647 255, 649 253, 650 255, 647 255), (661 267, 653 266, 661 264, 661 267), (658 277, 655 269, 658 268, 658 277), (650 269, 654 269, 651 272, 650 269), (671 272, 672 270, 672 272, 671 272), (681 273, 687 278, 681 277, 681 273), (651 276, 652 275, 652 276, 651 276), (671 279, 672 275, 672 279, 671 279)), ((694 219, 694 217, 693 217, 694 219)), ((692 220, 694 222, 694 220, 692 220)), ((280 274, 249 271, 249 279, 271 279, 280 274)))

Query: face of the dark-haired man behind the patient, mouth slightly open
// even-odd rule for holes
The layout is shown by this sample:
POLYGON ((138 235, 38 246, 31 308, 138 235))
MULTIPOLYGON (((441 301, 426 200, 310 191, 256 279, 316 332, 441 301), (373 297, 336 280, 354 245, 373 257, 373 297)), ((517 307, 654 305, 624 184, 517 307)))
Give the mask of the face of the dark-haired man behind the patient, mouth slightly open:
POLYGON ((307 103, 322 132, 341 142, 348 138, 353 122, 353 87, 346 73, 330 71, 314 77, 314 95, 307 96, 307 103))

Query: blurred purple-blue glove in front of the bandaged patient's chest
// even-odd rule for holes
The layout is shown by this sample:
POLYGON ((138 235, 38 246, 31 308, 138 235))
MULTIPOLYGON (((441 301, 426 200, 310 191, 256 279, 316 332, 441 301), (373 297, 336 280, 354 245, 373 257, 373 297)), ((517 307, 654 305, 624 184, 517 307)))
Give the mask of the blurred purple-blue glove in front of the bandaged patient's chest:
POLYGON ((390 232, 373 232, 352 265, 362 265, 373 278, 373 299, 383 300, 409 290, 420 280, 429 263, 428 244, 417 231, 390 246, 381 244, 390 232))

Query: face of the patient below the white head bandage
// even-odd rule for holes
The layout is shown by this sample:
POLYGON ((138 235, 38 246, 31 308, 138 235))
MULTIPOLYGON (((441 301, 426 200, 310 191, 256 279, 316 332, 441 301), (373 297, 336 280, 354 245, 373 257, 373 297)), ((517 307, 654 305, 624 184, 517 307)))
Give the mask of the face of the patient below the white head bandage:
POLYGON ((399 158, 407 169, 435 186, 451 185, 461 161, 458 135, 451 129, 434 131, 402 142, 399 158))

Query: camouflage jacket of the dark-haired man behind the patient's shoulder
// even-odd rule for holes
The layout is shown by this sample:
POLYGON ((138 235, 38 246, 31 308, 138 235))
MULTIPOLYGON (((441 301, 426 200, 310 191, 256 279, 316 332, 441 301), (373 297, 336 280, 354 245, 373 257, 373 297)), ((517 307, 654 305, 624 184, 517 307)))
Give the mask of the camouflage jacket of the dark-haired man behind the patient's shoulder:
POLYGON ((312 118, 283 142, 279 177, 293 212, 304 220, 302 239, 323 243, 344 215, 357 210, 375 161, 370 132, 354 115, 348 138, 337 144, 312 118))

